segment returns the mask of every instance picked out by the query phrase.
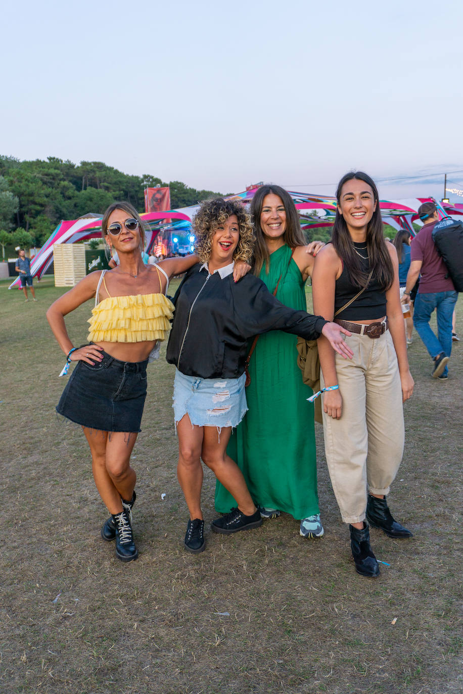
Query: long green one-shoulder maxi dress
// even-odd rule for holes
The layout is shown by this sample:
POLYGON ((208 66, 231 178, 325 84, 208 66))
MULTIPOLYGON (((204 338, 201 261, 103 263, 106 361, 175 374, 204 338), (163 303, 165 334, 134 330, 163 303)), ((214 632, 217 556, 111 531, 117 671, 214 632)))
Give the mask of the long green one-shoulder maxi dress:
MULTIPOLYGON (((260 279, 286 306, 307 310, 301 271, 282 246, 270 255, 260 279), (288 264, 289 263, 289 264, 288 264)), ((249 410, 228 443, 228 455, 244 474, 258 506, 286 511, 296 520, 319 513, 314 406, 296 363, 296 335, 272 330, 260 335, 249 363, 249 410)), ((237 502, 217 482, 215 508, 227 513, 237 502)))

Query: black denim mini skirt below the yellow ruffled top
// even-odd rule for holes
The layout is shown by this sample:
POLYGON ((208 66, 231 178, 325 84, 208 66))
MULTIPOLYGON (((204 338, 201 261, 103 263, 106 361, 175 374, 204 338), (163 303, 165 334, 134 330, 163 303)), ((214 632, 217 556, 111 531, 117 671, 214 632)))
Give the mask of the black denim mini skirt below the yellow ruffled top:
POLYGON ((148 359, 119 362, 101 354, 103 359, 93 366, 78 362, 56 412, 89 429, 140 432, 148 359))

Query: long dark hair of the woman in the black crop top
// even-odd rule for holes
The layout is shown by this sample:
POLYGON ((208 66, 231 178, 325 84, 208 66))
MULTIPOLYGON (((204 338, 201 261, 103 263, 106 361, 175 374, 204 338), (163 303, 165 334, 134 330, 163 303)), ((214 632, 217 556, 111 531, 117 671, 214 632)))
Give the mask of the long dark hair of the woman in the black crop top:
MULTIPOLYGON (((394 267, 392 266, 391 256, 387 250, 384 233, 382 231, 382 219, 379 203, 378 188, 368 174, 363 171, 348 171, 337 184, 336 199, 337 204, 341 202, 341 192, 344 183, 348 180, 362 180, 367 183, 373 191, 376 201, 376 210, 367 226, 367 255, 369 257, 369 270, 373 270, 373 277, 378 280, 383 290, 389 289, 394 281, 394 267)), ((348 232, 346 221, 339 209, 336 210, 335 225, 332 228, 332 245, 337 255, 343 260, 353 285, 364 287, 368 280, 368 273, 364 271, 360 258, 353 248, 351 235, 348 232)))

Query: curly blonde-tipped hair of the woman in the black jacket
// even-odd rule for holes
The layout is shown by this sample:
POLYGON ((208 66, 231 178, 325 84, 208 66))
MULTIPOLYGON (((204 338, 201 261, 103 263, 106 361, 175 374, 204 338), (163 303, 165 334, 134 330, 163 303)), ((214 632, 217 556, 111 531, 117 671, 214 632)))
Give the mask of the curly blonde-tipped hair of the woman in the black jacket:
POLYGON ((193 231, 196 235, 195 250, 200 262, 208 262, 212 250, 212 237, 219 226, 228 217, 236 215, 239 228, 239 241, 233 253, 233 260, 249 262, 253 255, 255 236, 251 216, 246 212, 242 203, 236 200, 213 198, 205 200, 193 220, 193 231))

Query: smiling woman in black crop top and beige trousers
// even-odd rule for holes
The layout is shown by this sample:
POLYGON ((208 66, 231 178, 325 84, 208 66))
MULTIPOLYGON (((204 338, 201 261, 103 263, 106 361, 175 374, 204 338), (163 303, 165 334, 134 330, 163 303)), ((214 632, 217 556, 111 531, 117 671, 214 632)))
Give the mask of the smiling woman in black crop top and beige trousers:
POLYGON ((332 243, 315 260, 314 312, 352 332, 354 357, 343 364, 319 339, 323 434, 332 486, 358 573, 377 576, 369 526, 410 537, 394 521, 386 496, 403 454, 403 401, 413 379, 408 368, 396 249, 385 242, 378 190, 361 171, 337 187, 332 243))

